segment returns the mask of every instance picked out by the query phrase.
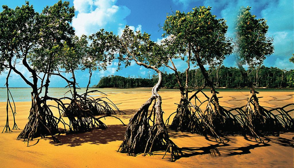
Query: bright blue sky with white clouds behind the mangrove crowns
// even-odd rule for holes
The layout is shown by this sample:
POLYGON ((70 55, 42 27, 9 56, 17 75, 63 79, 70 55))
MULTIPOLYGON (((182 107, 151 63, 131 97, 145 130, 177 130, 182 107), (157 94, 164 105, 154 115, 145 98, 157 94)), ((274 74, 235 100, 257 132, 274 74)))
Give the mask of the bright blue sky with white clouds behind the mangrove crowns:
MULTIPOLYGON (((41 12, 47 5, 53 5, 57 0, 29 1, 36 11, 41 12)), ((1 0, 0 5, 7 5, 10 8, 21 6, 24 0, 1 0)), ((228 35, 232 35, 233 21, 236 11, 240 6, 252 6, 251 13, 258 18, 268 20, 268 36, 273 36, 275 53, 264 61, 265 66, 274 66, 280 69, 294 69, 293 64, 288 60, 294 53, 294 13, 293 0, 71 0, 71 6, 76 8, 76 16, 72 26, 76 30, 76 35, 92 34, 101 28, 121 34, 125 25, 131 26, 134 30, 146 31, 151 34, 151 39, 160 41, 163 31, 159 24, 163 25, 166 14, 171 10, 191 11, 195 6, 212 6, 211 12, 218 18, 227 20, 229 26, 228 35)), ((2 11, 2 8, 0 9, 2 11)), ((224 61, 225 66, 235 66, 233 55, 228 56, 224 61)), ((132 64, 127 69, 116 71, 117 62, 113 62, 106 71, 96 71, 93 73, 91 84, 96 84, 102 76, 141 76, 147 77, 148 73, 154 72, 144 69, 136 64, 132 64)), ((179 71, 186 67, 181 61, 176 61, 179 71)), ((197 67, 196 67, 197 68, 197 67)), ((29 76, 25 69, 20 70, 29 76)), ((168 69, 165 69, 168 72, 168 69)), ((80 87, 87 85, 88 72, 77 71, 76 73, 80 87)), ((0 87, 4 87, 6 74, 0 75, 0 87)), ((10 87, 27 87, 22 79, 16 74, 11 75, 10 87)), ((51 87, 64 87, 66 83, 59 77, 51 78, 51 87)))

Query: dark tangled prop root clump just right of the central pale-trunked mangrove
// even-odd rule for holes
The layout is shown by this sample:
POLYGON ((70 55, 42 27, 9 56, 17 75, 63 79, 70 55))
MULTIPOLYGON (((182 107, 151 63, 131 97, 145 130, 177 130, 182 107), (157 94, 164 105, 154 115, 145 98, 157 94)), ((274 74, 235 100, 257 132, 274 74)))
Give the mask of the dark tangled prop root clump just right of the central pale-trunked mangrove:
MULTIPOLYGON (((235 116, 221 106, 218 106, 220 112, 217 112, 214 97, 208 97, 201 89, 195 90, 197 92, 189 100, 186 98, 181 99, 170 128, 182 132, 211 135, 220 142, 222 142, 221 135, 238 134, 242 126, 235 116), (198 98, 198 93, 203 94, 207 99, 201 102, 198 98), (195 99, 195 105, 190 102, 193 98, 195 99), (207 106, 203 112, 201 106, 206 102, 207 106)), ((167 121, 170 117, 168 117, 167 121)))

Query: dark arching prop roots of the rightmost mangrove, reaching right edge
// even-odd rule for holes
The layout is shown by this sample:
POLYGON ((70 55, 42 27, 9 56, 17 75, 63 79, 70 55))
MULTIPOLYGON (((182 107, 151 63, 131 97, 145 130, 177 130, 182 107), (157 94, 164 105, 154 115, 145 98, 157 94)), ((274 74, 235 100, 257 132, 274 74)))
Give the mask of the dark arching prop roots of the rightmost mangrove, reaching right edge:
POLYGON ((278 136, 281 132, 294 131, 294 121, 289 114, 289 112, 294 111, 293 107, 293 103, 277 108, 259 106, 259 113, 253 100, 250 100, 246 106, 231 109, 230 111, 238 112, 235 116, 238 116, 246 134, 254 137, 256 141, 263 142, 260 136, 278 136))

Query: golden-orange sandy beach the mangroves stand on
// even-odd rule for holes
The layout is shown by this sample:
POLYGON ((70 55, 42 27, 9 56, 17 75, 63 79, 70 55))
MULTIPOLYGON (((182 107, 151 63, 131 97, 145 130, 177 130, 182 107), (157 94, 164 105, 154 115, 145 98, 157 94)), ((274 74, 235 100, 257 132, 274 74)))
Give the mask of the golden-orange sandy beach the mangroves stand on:
MULTIPOLYGON (((163 118, 167 119, 175 112, 177 105, 174 103, 179 102, 180 93, 176 90, 161 90, 159 93, 162 97, 163 118)), ((249 94, 250 92, 220 92, 220 104, 225 107, 243 106, 249 94)), ((128 92, 109 94, 108 98, 126 113, 116 117, 127 124, 150 95, 150 92, 128 92)), ((263 97, 260 98, 260 104, 266 107, 282 107, 294 101, 293 92, 260 92, 259 96, 263 97)), ((24 128, 30 106, 31 102, 16 102, 16 123, 19 128, 24 128)), ((2 131, 6 122, 6 102, 0 102, 0 111, 2 131)), ((292 117, 293 115, 291 113, 292 117)), ((10 116, 11 127, 12 119, 10 116)), ((112 117, 101 121, 108 129, 60 134, 56 136, 61 141, 58 144, 48 136, 45 139, 34 139, 27 147, 23 141, 16 140, 21 130, 0 134, 0 167, 293 167, 294 148, 290 147, 293 132, 280 134, 279 137, 263 137, 265 143, 255 142, 249 136, 228 136, 224 137, 224 143, 219 143, 210 137, 168 129, 171 140, 184 152, 180 159, 170 162, 169 156, 161 159, 164 152, 154 152, 154 155, 145 157, 142 154, 131 157, 116 152, 123 141, 126 127, 112 117), (210 149, 214 146, 220 151, 220 157, 211 156, 210 149)))

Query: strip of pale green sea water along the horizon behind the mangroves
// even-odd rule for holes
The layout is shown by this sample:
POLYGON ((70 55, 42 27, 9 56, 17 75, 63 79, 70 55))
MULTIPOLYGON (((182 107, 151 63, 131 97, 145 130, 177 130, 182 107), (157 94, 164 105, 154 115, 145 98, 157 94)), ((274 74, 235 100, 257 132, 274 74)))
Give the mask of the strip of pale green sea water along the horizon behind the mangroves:
MULTIPOLYGON (((15 102, 30 102, 31 101, 31 88, 9 88, 11 95, 15 102)), ((120 94, 120 93, 140 93, 140 92, 151 92, 151 88, 134 88, 134 89, 110 89, 110 88, 89 88, 91 90, 98 90, 105 94, 120 94)), ((293 92, 293 89, 256 89, 258 92, 293 92)), ((71 97, 71 93, 68 92, 69 88, 49 88, 48 95, 50 97, 61 98, 71 97)), ((77 89, 78 94, 85 93, 86 88, 77 89)), ((177 92, 178 89, 160 89, 159 92, 177 92)), ((209 89, 203 89, 203 91, 210 91, 209 89)), ((249 89, 217 89, 219 92, 250 92, 249 89)), ((103 95, 100 92, 90 93, 91 96, 103 95)), ((41 94, 41 96, 43 96, 41 94)), ((10 99, 12 101, 12 99, 10 99)), ((0 88, 0 102, 7 101, 7 90, 5 87, 0 88)))

